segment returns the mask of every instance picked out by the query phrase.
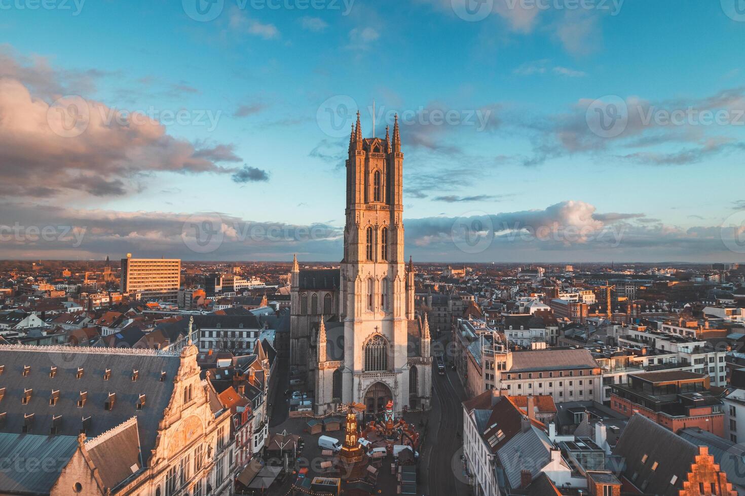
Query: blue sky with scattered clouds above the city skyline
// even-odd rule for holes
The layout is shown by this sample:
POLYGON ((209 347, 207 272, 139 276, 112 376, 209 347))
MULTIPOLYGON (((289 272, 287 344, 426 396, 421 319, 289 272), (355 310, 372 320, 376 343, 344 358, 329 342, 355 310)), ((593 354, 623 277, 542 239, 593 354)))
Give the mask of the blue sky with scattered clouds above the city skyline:
POLYGON ((475 22, 462 19, 469 1, 0 0, 12 149, 0 152, 0 225, 22 232, 0 237, 0 256, 337 260, 348 137, 327 109, 346 130, 359 108, 370 135, 375 100, 378 135, 393 112, 410 116, 406 219, 420 260, 743 257, 726 241, 744 231, 742 0, 485 0, 475 22), (215 19, 192 19, 196 2, 215 19), (311 4, 323 8, 300 8, 311 4), (54 123, 37 123, 51 134, 22 125, 60 97, 151 121, 135 132, 94 117, 62 138, 54 123), (609 102, 628 117, 603 136, 593 119, 609 102), (673 112, 688 114, 671 124, 673 112), (223 239, 206 254, 180 232, 204 212, 219 214, 223 239), (454 239, 459 218, 513 224, 472 253, 454 239), (28 235, 45 222, 86 236, 28 235), (327 235, 246 239, 236 222, 327 235), (568 226, 584 231, 505 239, 568 226), (620 241, 597 242, 603 230, 620 241))

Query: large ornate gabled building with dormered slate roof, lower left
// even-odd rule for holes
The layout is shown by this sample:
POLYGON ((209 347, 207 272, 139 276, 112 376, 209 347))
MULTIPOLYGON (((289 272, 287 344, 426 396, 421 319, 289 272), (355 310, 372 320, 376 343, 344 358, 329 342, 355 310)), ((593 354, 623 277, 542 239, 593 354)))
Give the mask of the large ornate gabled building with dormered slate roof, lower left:
POLYGON ((196 356, 191 344, 180 353, 1 346, 0 436, 77 437, 34 494, 229 495, 230 411, 200 378, 196 356))

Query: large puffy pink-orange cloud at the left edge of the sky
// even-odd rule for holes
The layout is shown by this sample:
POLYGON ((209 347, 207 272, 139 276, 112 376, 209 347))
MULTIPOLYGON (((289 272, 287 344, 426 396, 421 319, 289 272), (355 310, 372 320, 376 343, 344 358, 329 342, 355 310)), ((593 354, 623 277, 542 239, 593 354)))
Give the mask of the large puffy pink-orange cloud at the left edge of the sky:
POLYGON ((197 147, 165 126, 94 100, 55 106, 18 80, 0 80, 0 194, 121 196, 148 173, 234 173, 232 145, 197 147), (39 181, 43 187, 39 188, 39 181))

